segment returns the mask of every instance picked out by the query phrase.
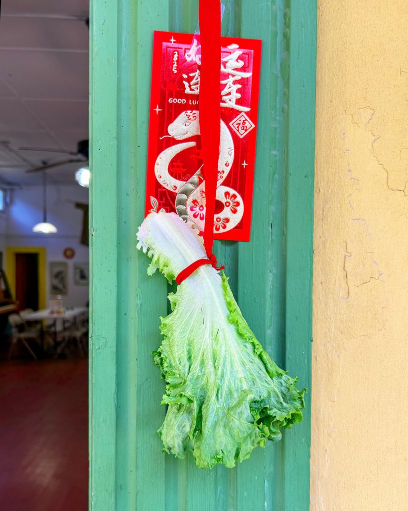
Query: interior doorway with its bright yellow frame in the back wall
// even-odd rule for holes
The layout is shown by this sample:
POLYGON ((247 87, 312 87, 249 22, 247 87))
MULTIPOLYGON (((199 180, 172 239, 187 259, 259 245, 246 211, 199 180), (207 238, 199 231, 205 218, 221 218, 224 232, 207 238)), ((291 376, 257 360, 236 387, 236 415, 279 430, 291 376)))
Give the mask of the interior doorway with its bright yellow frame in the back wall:
POLYGON ((7 247, 6 274, 18 309, 45 309, 45 247, 7 247))

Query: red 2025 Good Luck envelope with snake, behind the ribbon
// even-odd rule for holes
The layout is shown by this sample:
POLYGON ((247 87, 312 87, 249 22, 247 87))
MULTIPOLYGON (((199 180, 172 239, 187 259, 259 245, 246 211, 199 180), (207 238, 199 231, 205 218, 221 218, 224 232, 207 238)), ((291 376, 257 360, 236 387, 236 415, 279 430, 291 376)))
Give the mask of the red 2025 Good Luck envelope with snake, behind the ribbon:
MULTIPOLYGON (((214 238, 249 241, 261 41, 221 38, 221 136, 214 238)), ((177 212, 203 230, 205 169, 199 128, 199 35, 155 32, 146 215, 177 212)))

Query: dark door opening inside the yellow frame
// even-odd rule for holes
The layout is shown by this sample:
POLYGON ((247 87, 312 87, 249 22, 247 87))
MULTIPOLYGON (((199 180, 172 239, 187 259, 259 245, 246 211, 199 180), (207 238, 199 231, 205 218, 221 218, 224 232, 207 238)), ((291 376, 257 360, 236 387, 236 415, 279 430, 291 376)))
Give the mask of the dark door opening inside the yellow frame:
POLYGON ((15 254, 16 295, 18 310, 38 310, 38 254, 15 254))

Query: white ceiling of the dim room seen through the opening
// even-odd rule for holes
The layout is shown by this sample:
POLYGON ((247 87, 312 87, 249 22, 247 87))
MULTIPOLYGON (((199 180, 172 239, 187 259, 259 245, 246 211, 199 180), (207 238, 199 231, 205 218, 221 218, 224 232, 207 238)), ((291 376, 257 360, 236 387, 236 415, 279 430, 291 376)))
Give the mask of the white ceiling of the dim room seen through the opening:
MULTIPOLYGON (((25 170, 69 158, 19 147, 76 151, 88 138, 88 12, 87 0, 1 2, 0 184, 41 183, 25 170)), ((72 184, 78 167, 50 169, 49 181, 72 184)))

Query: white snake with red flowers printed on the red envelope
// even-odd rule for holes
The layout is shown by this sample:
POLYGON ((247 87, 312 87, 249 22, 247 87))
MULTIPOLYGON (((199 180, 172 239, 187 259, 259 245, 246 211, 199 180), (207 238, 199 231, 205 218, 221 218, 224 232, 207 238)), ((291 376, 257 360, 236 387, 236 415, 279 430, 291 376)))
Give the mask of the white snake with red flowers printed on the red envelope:
MULTIPOLYGON (((186 110, 177 117, 167 129, 169 135, 175 140, 185 140, 200 134, 198 110, 186 110)), ((169 164, 174 156, 185 149, 194 147, 195 142, 175 144, 157 157, 155 174, 157 180, 168 190, 175 192, 175 206, 177 214, 185 221, 189 220, 204 229, 206 213, 205 181, 201 175, 201 168, 187 182, 176 179, 169 174, 169 164)), ((214 232, 222 233, 238 225, 244 213, 244 205, 240 194, 221 183, 232 168, 234 161, 234 142, 230 130, 221 121, 220 152, 218 158, 218 179, 216 200, 223 203, 223 210, 214 215, 214 232)))

